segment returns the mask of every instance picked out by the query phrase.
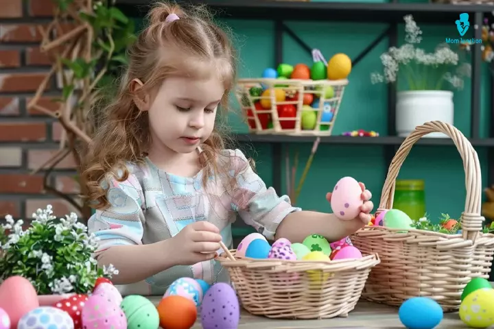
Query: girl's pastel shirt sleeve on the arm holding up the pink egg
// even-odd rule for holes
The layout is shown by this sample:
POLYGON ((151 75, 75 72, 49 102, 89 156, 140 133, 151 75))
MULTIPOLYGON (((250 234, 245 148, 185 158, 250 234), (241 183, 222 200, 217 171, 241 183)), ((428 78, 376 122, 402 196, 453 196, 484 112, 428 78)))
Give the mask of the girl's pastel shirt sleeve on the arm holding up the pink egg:
POLYGON ((279 197, 274 188, 266 188, 263 180, 254 172, 246 156, 239 149, 229 150, 231 171, 235 178, 232 205, 239 216, 257 232, 274 239, 276 230, 291 212, 300 211, 293 207, 287 195, 279 197))

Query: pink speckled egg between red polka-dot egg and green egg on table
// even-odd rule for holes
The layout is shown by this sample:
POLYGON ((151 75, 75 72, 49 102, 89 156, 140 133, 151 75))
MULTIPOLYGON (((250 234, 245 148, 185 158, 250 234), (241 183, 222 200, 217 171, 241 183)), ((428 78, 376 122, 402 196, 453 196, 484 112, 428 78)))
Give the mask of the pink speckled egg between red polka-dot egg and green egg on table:
POLYGON ((81 311, 83 328, 126 329, 127 318, 115 302, 102 295, 91 295, 81 311))

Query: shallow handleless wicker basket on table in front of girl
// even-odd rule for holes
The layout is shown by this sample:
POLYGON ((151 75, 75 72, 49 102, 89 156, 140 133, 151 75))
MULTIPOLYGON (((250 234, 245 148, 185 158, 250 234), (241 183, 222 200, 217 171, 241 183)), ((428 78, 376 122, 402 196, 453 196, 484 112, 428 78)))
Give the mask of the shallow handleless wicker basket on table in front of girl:
MULTIPOLYGON (((235 251, 231 251, 235 256, 235 251)), ((357 260, 217 258, 228 269, 242 306, 253 315, 285 319, 346 317, 355 308, 376 254, 357 260)))

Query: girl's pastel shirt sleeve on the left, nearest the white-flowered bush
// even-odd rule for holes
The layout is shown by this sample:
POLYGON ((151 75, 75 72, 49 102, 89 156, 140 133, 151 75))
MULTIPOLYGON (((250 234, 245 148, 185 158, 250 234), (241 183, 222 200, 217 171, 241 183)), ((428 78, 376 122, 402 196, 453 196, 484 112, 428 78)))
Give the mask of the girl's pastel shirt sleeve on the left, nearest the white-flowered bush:
POLYGON ((109 206, 96 210, 88 221, 89 233, 99 240, 95 257, 113 245, 142 244, 144 195, 139 180, 129 174, 123 182, 115 178, 102 182, 103 186, 107 184, 109 206))

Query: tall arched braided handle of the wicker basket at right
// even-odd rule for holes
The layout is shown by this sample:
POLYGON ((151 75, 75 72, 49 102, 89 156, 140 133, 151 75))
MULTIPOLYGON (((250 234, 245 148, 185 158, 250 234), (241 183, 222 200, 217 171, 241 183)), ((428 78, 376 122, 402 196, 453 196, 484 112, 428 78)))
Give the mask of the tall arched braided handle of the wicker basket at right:
POLYGON ((484 217, 480 215, 482 202, 482 175, 480 173, 480 164, 478 155, 473 149, 468 139, 449 123, 441 121, 430 121, 423 125, 415 127, 415 130, 405 138, 405 141, 399 147, 395 157, 392 159, 388 169, 388 175, 381 193, 381 201, 377 211, 392 209, 393 197, 395 195, 395 183, 401 165, 410 153, 410 149, 416 141, 429 134, 430 132, 442 132, 449 136, 456 145, 463 160, 463 169, 465 172, 465 187, 467 197, 465 200, 464 212, 461 214, 461 227, 463 239, 475 241, 482 230, 484 217))

